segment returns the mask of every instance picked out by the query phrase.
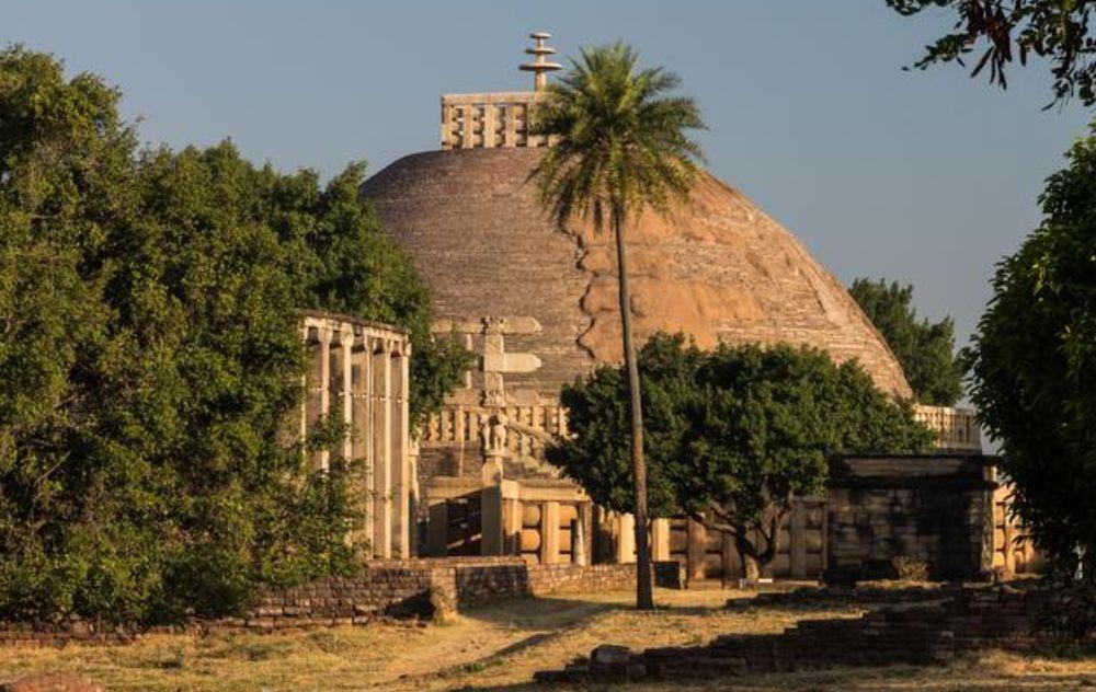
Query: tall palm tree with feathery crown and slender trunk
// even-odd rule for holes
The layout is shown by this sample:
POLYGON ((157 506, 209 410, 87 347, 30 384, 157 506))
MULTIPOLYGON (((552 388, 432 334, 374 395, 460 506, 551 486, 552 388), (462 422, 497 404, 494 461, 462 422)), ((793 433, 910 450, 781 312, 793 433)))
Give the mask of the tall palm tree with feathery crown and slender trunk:
POLYGON ((540 201, 560 228, 579 218, 601 232, 606 218, 616 237, 620 326, 631 400, 635 483, 636 606, 654 608, 647 542, 647 466, 639 368, 632 343, 625 228, 644 208, 667 214, 688 198, 704 155, 686 130, 704 127, 692 99, 667 95, 681 80, 661 68, 636 69, 638 55, 615 43, 582 50, 580 60, 546 89, 533 131, 553 146, 529 174, 540 201))

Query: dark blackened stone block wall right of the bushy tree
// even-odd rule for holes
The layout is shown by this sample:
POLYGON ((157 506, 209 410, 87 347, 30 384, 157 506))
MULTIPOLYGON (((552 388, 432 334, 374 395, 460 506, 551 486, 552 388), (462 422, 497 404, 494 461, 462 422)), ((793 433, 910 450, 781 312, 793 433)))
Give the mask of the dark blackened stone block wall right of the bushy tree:
POLYGON ((991 458, 858 457, 831 466, 825 579, 898 576, 893 561, 924 563, 933 579, 993 568, 991 458))

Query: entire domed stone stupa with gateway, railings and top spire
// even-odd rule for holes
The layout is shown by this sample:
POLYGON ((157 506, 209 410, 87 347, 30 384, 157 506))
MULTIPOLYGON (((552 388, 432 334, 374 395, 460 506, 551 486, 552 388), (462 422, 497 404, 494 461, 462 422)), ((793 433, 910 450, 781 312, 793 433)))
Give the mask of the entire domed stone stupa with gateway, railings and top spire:
MULTIPOLYGON (((612 239, 583 223, 557 228, 529 181, 553 143, 529 124, 557 67, 545 60, 553 53, 548 35, 533 37, 536 59, 522 69, 534 72, 534 91, 442 96, 441 150, 391 163, 361 191, 429 282, 437 337, 458 338, 478 356, 419 431, 423 552, 626 562, 635 551, 630 517, 593 507, 544 460, 546 445, 567 435, 560 388, 619 362, 621 349, 612 239)), ((731 185, 704 172, 687 204, 665 218, 646 214, 626 232, 640 343, 683 331, 706 348, 806 344, 837 361, 855 358, 883 391, 911 395, 840 281, 731 185)), ((918 416, 941 449, 980 453, 972 414, 923 407, 918 416)), ((812 522, 824 500, 804 501, 790 530, 821 555, 824 523, 812 522)), ((659 520, 652 535, 655 560, 710 558, 703 527, 659 520)), ((789 561, 789 574, 819 573, 802 554, 789 561)))

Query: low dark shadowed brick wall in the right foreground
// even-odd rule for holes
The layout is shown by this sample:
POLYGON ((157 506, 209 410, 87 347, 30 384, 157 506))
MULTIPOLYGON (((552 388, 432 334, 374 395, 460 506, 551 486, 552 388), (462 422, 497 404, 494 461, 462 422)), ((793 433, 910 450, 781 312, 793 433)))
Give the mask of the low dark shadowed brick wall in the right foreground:
MULTIPOLYGON (((947 591, 941 591, 947 596, 947 591)), ((590 659, 543 671, 541 682, 610 683, 639 680, 718 679, 747 673, 824 669, 835 666, 946 664, 990 649, 1030 650, 1063 635, 1064 613, 1084 610, 1096 635, 1092 602, 1052 589, 967 588, 935 602, 891 606, 849 620, 808 620, 780 634, 717 637, 706 646, 632 653, 595 648, 590 659)))

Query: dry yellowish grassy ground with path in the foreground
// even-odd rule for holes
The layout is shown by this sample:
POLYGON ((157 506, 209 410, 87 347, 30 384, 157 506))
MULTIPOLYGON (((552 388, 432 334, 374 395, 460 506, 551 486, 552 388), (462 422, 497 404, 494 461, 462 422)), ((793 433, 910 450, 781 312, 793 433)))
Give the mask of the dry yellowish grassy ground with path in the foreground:
MULTIPOLYGON (((375 625, 282 635, 155 636, 129 646, 0 648, 0 679, 65 670, 112 690, 523 689, 597 644, 643 648, 701 644, 717 634, 778 632, 808 618, 861 611, 765 608, 728 611, 733 591, 660 591, 638 613, 630 593, 522 600, 481 608, 448 625, 375 625)), ((665 684, 630 688, 664 690, 665 684)), ((697 690, 1096 690, 1096 659, 987 654, 950 668, 852 669, 729 680, 697 690)))

